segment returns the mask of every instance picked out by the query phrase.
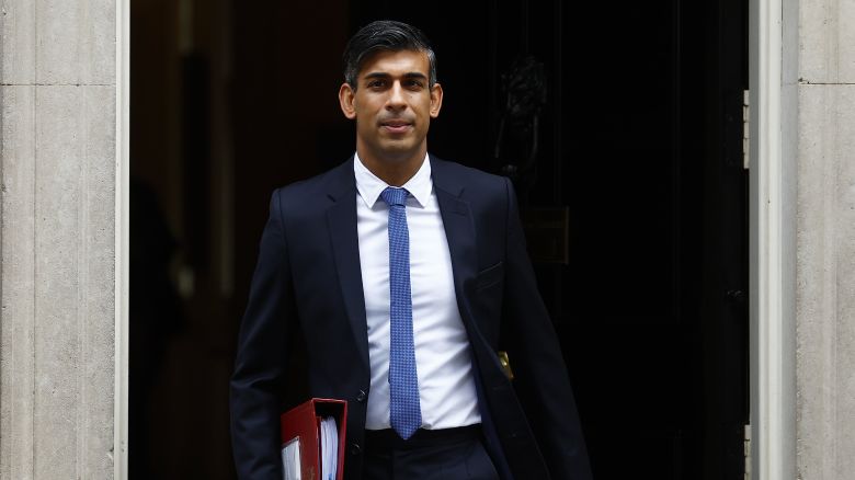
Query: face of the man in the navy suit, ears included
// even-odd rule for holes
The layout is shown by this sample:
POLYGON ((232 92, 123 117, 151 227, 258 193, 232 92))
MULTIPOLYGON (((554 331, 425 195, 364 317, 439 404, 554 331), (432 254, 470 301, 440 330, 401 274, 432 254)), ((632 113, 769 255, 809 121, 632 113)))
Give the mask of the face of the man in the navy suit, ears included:
POLYGON ((430 87, 429 71, 423 52, 378 52, 363 64, 355 91, 341 87, 342 111, 356 119, 357 150, 390 162, 424 156, 443 98, 438 83, 430 87))

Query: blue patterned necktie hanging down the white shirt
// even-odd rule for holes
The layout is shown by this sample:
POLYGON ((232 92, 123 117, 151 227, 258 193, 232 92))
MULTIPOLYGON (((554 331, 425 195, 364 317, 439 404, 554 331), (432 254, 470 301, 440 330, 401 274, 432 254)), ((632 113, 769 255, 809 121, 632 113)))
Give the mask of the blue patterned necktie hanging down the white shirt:
POLYGON ((419 377, 412 341, 412 293, 410 290, 410 235, 407 231, 404 188, 387 187, 380 196, 389 204, 389 420, 407 439, 422 425, 419 377))

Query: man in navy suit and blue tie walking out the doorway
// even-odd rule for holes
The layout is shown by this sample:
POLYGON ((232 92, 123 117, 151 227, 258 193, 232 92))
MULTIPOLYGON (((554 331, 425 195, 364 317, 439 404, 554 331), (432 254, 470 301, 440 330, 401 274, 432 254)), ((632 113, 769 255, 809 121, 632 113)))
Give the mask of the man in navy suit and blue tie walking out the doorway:
POLYGON ((240 478, 282 478, 293 342, 310 395, 349 401, 346 479, 590 478, 511 183, 428 153, 430 44, 375 22, 344 60, 355 155, 271 199, 231 380, 240 478))

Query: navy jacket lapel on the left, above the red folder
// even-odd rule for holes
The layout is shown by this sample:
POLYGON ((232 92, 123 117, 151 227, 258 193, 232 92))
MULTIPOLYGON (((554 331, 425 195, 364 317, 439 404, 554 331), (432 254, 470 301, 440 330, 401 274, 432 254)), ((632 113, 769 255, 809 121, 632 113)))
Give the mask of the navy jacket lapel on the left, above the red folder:
POLYGON ((329 197, 333 204, 327 210, 327 224, 347 319, 360 357, 367 367, 368 335, 360 265, 360 236, 356 229, 356 181, 353 176, 353 159, 344 162, 337 173, 329 190, 329 197))

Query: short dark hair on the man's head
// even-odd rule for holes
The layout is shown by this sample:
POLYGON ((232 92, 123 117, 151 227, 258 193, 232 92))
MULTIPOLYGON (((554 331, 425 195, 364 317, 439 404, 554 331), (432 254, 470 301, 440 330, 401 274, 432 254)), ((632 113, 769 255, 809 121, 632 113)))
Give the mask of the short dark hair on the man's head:
POLYGON ((430 85, 436 83, 436 55, 430 41, 417 27, 392 20, 372 22, 356 32, 344 47, 344 81, 356 90, 362 65, 376 52, 417 50, 428 54, 430 85))

